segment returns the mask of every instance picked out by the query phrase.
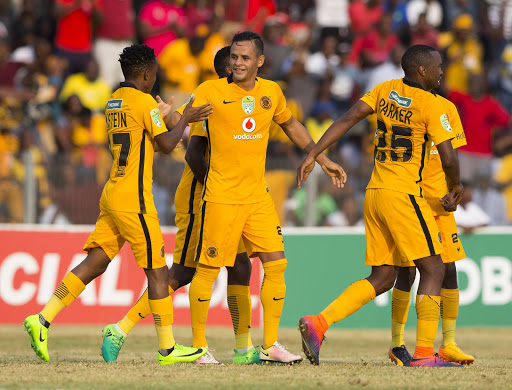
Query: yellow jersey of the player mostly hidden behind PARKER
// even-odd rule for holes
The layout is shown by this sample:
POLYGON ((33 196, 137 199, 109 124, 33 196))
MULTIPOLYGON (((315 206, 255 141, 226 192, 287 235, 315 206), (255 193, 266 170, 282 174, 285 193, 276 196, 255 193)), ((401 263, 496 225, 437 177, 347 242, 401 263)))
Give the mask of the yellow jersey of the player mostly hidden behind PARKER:
MULTIPOLYGON (((457 149, 466 145, 466 134, 464 134, 462 122, 455 104, 442 96, 438 95, 437 98, 440 99, 446 107, 446 115, 448 115, 450 126, 453 129, 453 134, 455 135, 452 139, 453 148, 457 149)), ((432 148, 430 149, 430 159, 425 168, 425 175, 423 176, 421 187, 424 190, 423 194, 425 199, 432 211, 434 211, 434 214, 448 215, 449 212, 445 211, 441 202, 439 202, 439 199, 448 193, 448 186, 446 185, 446 177, 441 164, 441 157, 439 157, 437 148, 434 145, 432 145, 432 148)))

